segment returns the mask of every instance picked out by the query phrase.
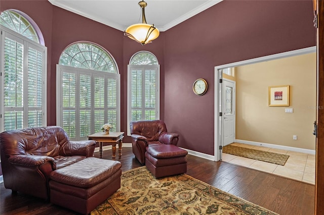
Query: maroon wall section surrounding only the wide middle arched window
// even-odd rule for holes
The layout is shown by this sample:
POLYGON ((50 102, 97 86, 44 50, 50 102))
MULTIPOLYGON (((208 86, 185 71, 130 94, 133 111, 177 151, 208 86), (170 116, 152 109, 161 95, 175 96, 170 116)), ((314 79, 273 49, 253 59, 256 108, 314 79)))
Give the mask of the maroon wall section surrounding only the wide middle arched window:
MULTIPOLYGON (((53 49, 50 74, 52 81, 50 82, 51 96, 49 97, 51 106, 49 113, 52 115, 48 114, 48 125, 56 124, 56 65, 66 46, 77 41, 90 41, 101 45, 115 59, 119 73, 123 75, 125 72, 123 67, 123 32, 53 6, 53 49)), ((124 83, 121 82, 122 92, 124 87, 124 83)))

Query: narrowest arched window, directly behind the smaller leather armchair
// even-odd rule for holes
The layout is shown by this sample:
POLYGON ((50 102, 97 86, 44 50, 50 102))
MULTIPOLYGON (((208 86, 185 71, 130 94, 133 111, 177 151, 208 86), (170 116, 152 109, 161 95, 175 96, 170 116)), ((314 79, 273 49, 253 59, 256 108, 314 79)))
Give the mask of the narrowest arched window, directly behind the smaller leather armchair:
POLYGON ((128 124, 159 119, 159 77, 158 61, 151 52, 133 55, 128 65, 128 124))

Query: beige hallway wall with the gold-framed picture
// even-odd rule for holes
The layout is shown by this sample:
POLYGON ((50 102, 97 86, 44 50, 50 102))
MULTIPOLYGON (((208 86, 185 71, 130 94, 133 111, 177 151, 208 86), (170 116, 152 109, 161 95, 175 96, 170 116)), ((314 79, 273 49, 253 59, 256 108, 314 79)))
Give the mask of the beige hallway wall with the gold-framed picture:
POLYGON ((235 78, 236 139, 315 150, 316 53, 237 67, 235 78), (290 106, 268 106, 279 85, 290 85, 290 106))

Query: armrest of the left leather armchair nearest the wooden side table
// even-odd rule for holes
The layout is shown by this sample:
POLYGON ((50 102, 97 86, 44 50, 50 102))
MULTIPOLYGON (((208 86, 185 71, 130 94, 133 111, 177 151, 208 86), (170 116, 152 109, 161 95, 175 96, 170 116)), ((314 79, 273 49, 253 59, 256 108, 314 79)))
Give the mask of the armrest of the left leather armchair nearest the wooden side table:
POLYGON ((62 156, 83 155, 92 157, 95 150, 96 141, 68 141, 60 147, 59 154, 62 156))

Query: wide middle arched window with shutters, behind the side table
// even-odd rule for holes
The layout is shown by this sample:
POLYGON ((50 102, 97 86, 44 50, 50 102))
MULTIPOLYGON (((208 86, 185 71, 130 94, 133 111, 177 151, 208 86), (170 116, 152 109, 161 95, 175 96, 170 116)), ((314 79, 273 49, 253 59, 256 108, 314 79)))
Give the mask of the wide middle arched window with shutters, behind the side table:
POLYGON ((66 47, 57 65, 57 125, 72 140, 87 139, 105 123, 120 130, 120 75, 103 47, 76 42, 66 47))

